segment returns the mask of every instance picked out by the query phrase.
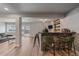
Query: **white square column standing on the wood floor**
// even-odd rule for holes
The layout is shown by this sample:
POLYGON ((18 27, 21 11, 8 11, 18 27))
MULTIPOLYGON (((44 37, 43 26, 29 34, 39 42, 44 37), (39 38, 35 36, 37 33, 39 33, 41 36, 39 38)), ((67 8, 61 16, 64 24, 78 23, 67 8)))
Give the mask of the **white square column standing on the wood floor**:
POLYGON ((21 46, 21 22, 22 22, 22 18, 21 17, 17 17, 16 19, 16 47, 20 47, 21 46))

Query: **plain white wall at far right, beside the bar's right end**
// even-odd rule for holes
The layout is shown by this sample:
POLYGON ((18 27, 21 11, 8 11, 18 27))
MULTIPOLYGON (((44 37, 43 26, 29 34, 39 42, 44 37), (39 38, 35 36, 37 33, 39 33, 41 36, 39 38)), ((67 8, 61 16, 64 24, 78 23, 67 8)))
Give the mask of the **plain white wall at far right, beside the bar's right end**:
POLYGON ((67 14, 67 16, 64 18, 64 23, 64 27, 79 33, 79 7, 67 14))

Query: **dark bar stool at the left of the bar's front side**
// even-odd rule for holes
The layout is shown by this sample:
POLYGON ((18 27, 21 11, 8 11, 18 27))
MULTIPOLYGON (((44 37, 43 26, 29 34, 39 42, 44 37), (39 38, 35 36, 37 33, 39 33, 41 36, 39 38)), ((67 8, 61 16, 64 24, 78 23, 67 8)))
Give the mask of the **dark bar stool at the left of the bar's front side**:
POLYGON ((43 36, 42 50, 43 50, 43 52, 53 50, 53 54, 55 56, 55 41, 53 39, 53 36, 43 36))

